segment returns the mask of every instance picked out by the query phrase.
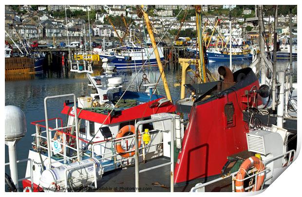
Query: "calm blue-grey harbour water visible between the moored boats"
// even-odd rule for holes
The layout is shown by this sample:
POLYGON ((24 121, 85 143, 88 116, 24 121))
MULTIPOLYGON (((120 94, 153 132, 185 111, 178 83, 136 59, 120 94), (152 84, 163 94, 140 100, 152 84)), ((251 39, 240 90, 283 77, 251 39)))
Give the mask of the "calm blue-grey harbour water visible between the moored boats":
MULTIPOLYGON (((249 61, 235 61, 233 65, 235 69, 247 67, 251 62, 249 61)), ((284 69, 288 66, 289 61, 282 60, 277 62, 278 69, 284 69)), ((218 78, 217 69, 219 66, 229 66, 229 62, 210 62, 207 67, 218 78)), ((94 69, 94 74, 98 74, 99 68, 94 69)), ((139 70, 139 69, 137 69, 139 70)), ((297 81, 297 61, 293 62, 294 77, 293 80, 297 81)), ((124 84, 124 89, 128 86, 130 81, 135 78, 134 69, 118 70, 120 76, 128 79, 129 82, 124 84)), ((143 75, 143 69, 138 74, 137 81, 140 84, 143 75)), ((150 82, 155 82, 159 77, 159 71, 157 68, 146 68, 145 73, 148 76, 150 82)), ((174 83, 180 82, 181 70, 174 70, 173 66, 165 71, 167 81, 170 87, 170 92, 173 100, 179 99, 180 86, 174 87, 174 83)), ((190 83, 191 79, 187 78, 187 83, 190 83)), ((35 133, 35 126, 30 124, 32 121, 45 119, 44 115, 44 98, 47 96, 70 94, 74 93, 76 97, 81 95, 89 95, 91 87, 87 86, 88 79, 85 74, 79 73, 65 73, 64 71, 44 71, 43 74, 39 75, 10 75, 6 76, 5 79, 5 105, 15 105, 23 110, 26 123, 27 123, 27 134, 17 143, 17 159, 28 158, 28 150, 31 148, 31 142, 33 137, 31 134, 35 133)), ((136 90, 137 84, 134 79, 130 90, 136 90)), ((160 94, 165 94, 162 81, 159 83, 160 94)), ((66 98, 62 99, 51 99, 48 101, 48 117, 61 117, 60 110, 63 107, 63 102, 66 98)), ((72 99, 72 98, 70 98, 72 99)), ((7 146, 5 146, 5 162, 8 162, 7 146)), ((8 172, 8 167, 5 171, 8 172)), ((26 164, 18 164, 19 178, 25 176, 26 164)))

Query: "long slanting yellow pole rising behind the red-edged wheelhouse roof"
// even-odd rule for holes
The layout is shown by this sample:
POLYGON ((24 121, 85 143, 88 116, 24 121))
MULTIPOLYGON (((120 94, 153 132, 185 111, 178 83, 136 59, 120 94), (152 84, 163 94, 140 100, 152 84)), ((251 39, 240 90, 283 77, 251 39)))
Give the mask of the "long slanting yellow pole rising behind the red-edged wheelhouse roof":
POLYGON ((150 23, 148 14, 146 13, 146 11, 147 11, 146 8, 147 7, 145 7, 144 5, 141 5, 141 8, 142 8, 141 11, 143 13, 144 19, 146 21, 147 30, 148 30, 148 33, 149 33, 149 36, 150 36, 150 39, 151 39, 151 43, 152 43, 153 51, 154 51, 156 61, 157 61, 157 64, 158 64, 158 68, 159 68, 159 71, 161 73, 161 78, 162 78, 163 83, 164 83, 166 96, 170 101, 172 101, 172 98, 171 98, 171 95, 170 95, 170 90, 169 90, 167 79, 166 79, 166 75, 165 75, 165 71, 163 69, 163 65, 162 65, 162 62, 161 62, 161 59, 159 57, 159 53, 158 53, 158 50, 157 50, 157 47, 156 47, 156 42, 155 42, 155 38, 154 38, 154 35, 153 35, 151 23, 150 23))

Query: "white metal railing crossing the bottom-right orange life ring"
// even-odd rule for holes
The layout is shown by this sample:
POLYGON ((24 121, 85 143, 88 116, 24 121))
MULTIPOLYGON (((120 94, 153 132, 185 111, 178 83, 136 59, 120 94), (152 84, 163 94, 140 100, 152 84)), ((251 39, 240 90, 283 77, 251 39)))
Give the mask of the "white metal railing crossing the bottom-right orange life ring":
MULTIPOLYGON (((292 163, 292 160, 291 160, 292 154, 293 154, 293 156, 295 156, 296 151, 295 151, 295 150, 287 151, 286 153, 281 154, 281 155, 279 155, 279 156, 276 156, 276 157, 273 157, 273 158, 264 160, 263 163, 264 163, 264 165, 265 165, 265 164, 267 164, 267 163, 269 163, 269 162, 271 162, 271 161, 274 161, 274 160, 276 160, 276 159, 283 158, 283 157, 285 157, 286 155, 289 155, 289 160, 288 160, 288 162, 287 162, 287 166, 289 166, 289 165, 292 163)), ((191 188, 190 192, 204 192, 206 186, 208 186, 208 185, 210 185, 210 184, 212 184, 212 183, 216 183, 216 182, 218 182, 218 181, 220 181, 220 180, 226 179, 226 178, 228 178, 228 177, 232 177, 232 192, 235 192, 235 181, 245 181, 246 179, 250 179, 251 177, 255 177, 255 180, 256 180, 256 181, 255 181, 255 184, 246 187, 246 188, 245 188, 245 191, 247 191, 247 190, 253 188, 254 186, 255 186, 255 188, 257 187, 257 177, 258 177, 259 174, 261 174, 261 173, 266 174, 267 172, 270 172, 271 170, 273 170, 273 169, 269 169, 269 168, 265 167, 265 169, 264 169, 263 171, 257 172, 256 174, 253 174, 253 175, 251 175, 251 176, 248 176, 248 177, 246 177, 246 178, 244 178, 244 179, 242 179, 242 180, 237 180, 237 179, 236 179, 236 175, 237 175, 237 173, 239 172, 239 171, 237 171, 237 172, 228 174, 228 175, 226 175, 226 176, 216 178, 216 179, 211 180, 211 181, 206 182, 206 183, 197 183, 197 184, 195 185, 195 187, 192 187, 192 188, 191 188)), ((249 170, 247 173, 250 174, 250 173, 254 173, 254 172, 256 172, 256 171, 257 171, 257 170, 256 170, 255 168, 253 168, 253 169, 249 170)), ((271 178, 272 178, 272 177, 265 177, 264 182, 267 181, 267 180, 269 180, 269 179, 271 179, 271 178)), ((261 189, 263 189, 263 186, 264 186, 264 185, 262 185, 261 189)))

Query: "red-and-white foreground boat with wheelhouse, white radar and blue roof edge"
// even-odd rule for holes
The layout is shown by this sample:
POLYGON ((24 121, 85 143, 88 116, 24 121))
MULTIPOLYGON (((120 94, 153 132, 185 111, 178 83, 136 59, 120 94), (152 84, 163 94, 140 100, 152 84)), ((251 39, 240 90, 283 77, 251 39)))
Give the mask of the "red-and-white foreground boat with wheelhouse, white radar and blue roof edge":
MULTIPOLYGON (((75 167, 76 160, 83 161, 78 163, 79 167, 85 162, 95 161, 98 165, 97 179, 103 176, 103 173, 133 164, 135 122, 151 119, 153 114, 175 111, 170 100, 154 94, 154 84, 145 84, 148 87, 146 92, 122 91, 123 80, 121 77, 115 77, 113 72, 114 58, 103 59, 105 60, 103 62, 104 75, 92 77, 87 74, 90 81, 88 86, 93 88, 90 97, 78 97, 76 102, 74 96, 73 102, 66 100, 63 103, 61 113, 66 116, 65 123, 59 117, 46 117, 45 120, 32 122, 36 127, 36 132, 32 135, 35 140, 32 142, 33 148, 29 150, 28 158, 40 164, 35 165, 35 170, 32 172, 33 166, 29 162, 26 176, 33 176, 34 191, 58 185, 64 187, 63 172, 69 169, 69 166, 75 167), (54 123, 56 126, 50 126, 54 123), (46 130, 42 131, 45 127, 46 130), (58 144, 59 150, 54 148, 55 143, 58 144), (63 165, 65 167, 62 167, 63 165), (56 169, 53 170, 54 168, 56 169), (54 184, 53 180, 49 182, 51 180, 49 173, 55 173, 53 174, 55 179, 61 177, 62 180, 57 179, 54 184)), ((70 95, 45 99, 64 96, 70 95)), ((47 114, 49 108, 47 105, 45 107, 47 114)), ((160 144, 163 133, 153 131, 153 126, 150 124, 142 125, 139 132, 146 133, 150 137, 150 143, 143 145, 146 149, 140 157, 151 159, 162 156, 163 149, 160 148, 160 144)), ((140 144, 143 140, 143 138, 140 139, 140 144)), ((84 170, 88 169, 90 172, 92 168, 88 166, 84 170)), ((73 187, 83 186, 78 182, 79 179, 80 177, 75 179, 76 185, 73 187)), ((28 179, 23 180, 22 184, 24 188, 32 185, 28 179)))

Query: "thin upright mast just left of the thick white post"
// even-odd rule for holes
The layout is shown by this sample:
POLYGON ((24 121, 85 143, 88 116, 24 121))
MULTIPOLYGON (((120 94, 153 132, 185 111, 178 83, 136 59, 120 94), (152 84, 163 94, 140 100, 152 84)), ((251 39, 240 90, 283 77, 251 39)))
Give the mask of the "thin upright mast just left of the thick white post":
POLYGON ((277 26, 278 26, 278 5, 275 5, 275 26, 274 26, 274 62, 273 62, 273 81, 272 81, 272 110, 276 109, 276 77, 277 77, 277 26))

